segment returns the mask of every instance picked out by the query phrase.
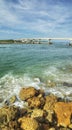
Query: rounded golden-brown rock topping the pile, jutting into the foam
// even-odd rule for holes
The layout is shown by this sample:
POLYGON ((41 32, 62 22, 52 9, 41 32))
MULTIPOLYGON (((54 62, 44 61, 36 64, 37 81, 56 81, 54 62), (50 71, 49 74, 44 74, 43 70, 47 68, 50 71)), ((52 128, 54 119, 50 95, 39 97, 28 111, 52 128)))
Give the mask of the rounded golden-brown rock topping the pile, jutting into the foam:
POLYGON ((21 100, 27 100, 35 95, 38 94, 38 91, 33 88, 33 87, 28 87, 28 88, 22 88, 20 93, 19 93, 19 97, 21 100))

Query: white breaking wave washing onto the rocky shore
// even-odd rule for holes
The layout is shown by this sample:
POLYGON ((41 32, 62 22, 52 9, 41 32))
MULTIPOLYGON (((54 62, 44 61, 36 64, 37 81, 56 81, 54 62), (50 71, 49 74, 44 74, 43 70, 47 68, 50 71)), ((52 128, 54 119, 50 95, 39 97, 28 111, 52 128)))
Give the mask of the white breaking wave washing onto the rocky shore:
MULTIPOLYGON (((58 76, 57 68, 51 67, 51 71, 46 71, 44 74, 47 76, 54 76, 56 85, 47 87, 46 82, 42 82, 38 77, 30 77, 28 74, 24 75, 13 75, 8 73, 0 78, 0 97, 3 98, 3 102, 6 99, 9 99, 12 95, 16 95, 18 97, 20 89, 22 87, 35 87, 36 89, 43 89, 46 94, 52 93, 61 98, 69 98, 72 100, 72 86, 64 86, 62 82, 64 82, 68 77, 64 77, 64 75, 58 76), (60 78, 60 76, 62 76, 60 78), (62 79, 63 78, 63 79, 62 79)), ((71 75, 72 76, 72 75, 71 75)), ((51 79, 47 79, 48 82, 53 82, 51 79)), ((70 79, 69 79, 70 80, 70 79)), ((68 80, 68 82, 69 82, 68 80)), ((19 98, 19 97, 18 97, 19 98)), ((15 105, 21 106, 23 103, 18 101, 15 105)))

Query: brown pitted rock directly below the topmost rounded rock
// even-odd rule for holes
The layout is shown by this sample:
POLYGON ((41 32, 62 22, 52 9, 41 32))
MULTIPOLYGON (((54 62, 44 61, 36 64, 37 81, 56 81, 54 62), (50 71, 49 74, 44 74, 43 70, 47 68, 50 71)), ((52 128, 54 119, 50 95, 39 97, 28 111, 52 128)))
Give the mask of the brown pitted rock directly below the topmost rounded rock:
POLYGON ((27 102, 30 108, 42 108, 45 104, 45 99, 42 95, 39 95, 28 99, 27 102))

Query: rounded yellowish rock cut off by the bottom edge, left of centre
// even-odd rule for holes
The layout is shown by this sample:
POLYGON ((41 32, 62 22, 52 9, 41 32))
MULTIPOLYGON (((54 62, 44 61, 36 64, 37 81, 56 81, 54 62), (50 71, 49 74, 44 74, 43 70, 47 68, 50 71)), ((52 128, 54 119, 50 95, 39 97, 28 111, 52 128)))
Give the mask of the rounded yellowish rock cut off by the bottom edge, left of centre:
POLYGON ((38 122, 30 117, 22 117, 18 122, 21 124, 22 130, 40 130, 38 122))

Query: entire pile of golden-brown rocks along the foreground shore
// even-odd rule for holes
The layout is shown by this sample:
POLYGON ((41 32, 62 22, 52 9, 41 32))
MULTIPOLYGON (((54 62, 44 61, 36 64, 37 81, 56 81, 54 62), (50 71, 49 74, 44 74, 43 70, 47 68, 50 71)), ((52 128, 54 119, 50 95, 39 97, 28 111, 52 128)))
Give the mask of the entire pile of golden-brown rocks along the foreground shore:
POLYGON ((19 99, 14 95, 0 108, 0 130, 72 130, 72 102, 24 87, 19 99), (17 100, 23 107, 14 105, 17 100))

